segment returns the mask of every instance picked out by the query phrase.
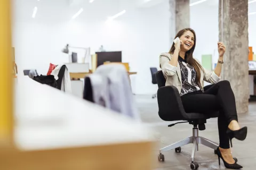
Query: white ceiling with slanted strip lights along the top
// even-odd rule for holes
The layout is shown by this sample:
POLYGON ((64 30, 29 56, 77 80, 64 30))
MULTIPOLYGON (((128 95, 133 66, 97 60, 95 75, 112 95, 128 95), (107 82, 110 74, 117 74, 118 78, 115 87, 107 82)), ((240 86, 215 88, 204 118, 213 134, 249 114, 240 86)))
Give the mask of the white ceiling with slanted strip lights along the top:
MULTIPOLYGON (((36 19, 40 21, 67 21, 83 8, 83 13, 79 16, 84 20, 106 20, 108 16, 113 16, 118 12, 127 12, 135 8, 148 8, 169 0, 13 0, 14 18, 18 21, 33 20, 31 15, 37 6, 36 19)), ((190 0, 190 3, 199 0, 190 0)), ((251 0, 249 0, 251 1, 251 0)), ((166 2, 165 2, 166 3, 166 2)), ((208 0, 201 4, 191 6, 193 8, 211 6, 218 8, 219 0, 208 0)), ((249 4, 249 12, 256 12, 256 2, 249 4)))

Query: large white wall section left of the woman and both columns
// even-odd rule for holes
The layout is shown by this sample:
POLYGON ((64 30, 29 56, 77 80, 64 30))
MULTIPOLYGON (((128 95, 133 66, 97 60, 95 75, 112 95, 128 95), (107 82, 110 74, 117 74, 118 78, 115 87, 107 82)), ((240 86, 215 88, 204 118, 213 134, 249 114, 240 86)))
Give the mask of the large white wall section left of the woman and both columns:
MULTIPOLYGON (((67 43, 70 46, 90 46, 92 52, 103 45, 109 51, 122 50, 123 62, 129 62, 131 70, 138 72, 132 78, 135 93, 156 92, 156 85, 151 84, 149 67, 158 67, 159 54, 169 49, 167 1, 150 8, 133 8, 132 5, 127 5, 127 2, 122 6, 108 5, 97 13, 93 7, 91 11, 90 8, 86 8, 86 14, 82 13, 83 15, 75 20, 69 19, 72 16, 71 12, 68 14, 63 12, 66 9, 65 5, 55 9, 52 6, 50 11, 44 11, 44 14, 52 13, 53 18, 49 14, 43 16, 40 10, 44 6, 39 5, 35 19, 31 18, 34 5, 26 6, 30 8, 29 13, 26 13, 27 9, 20 9, 20 5, 23 4, 17 2, 13 27, 13 45, 16 49, 16 61, 20 73, 24 69, 35 68, 39 73, 45 74, 50 62, 56 64, 66 62, 68 58, 61 53, 61 49, 67 43), (123 6, 128 6, 126 14, 113 23, 106 23, 107 16, 122 11, 123 6), (59 13, 63 17, 59 18, 54 13, 59 13), (90 14, 90 17, 87 14, 90 14)), ((73 14, 76 11, 73 10, 73 14)))

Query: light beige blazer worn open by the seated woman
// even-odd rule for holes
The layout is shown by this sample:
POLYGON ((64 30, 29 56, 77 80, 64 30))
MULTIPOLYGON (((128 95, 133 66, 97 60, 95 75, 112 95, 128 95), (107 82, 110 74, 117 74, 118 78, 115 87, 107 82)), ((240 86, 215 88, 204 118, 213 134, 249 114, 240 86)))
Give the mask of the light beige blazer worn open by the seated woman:
MULTIPOLYGON (((175 86, 179 90, 179 93, 182 88, 182 83, 181 83, 181 72, 180 72, 180 65, 179 63, 177 64, 177 67, 169 64, 171 61, 172 55, 169 53, 162 53, 160 55, 160 67, 163 71, 164 77, 166 79, 165 86, 175 86)), ((199 64, 200 62, 195 59, 199 64)), ((203 68, 204 69, 204 68, 203 68)), ((201 79, 200 83, 198 84, 199 88, 204 91, 203 89, 203 81, 209 82, 209 83, 217 83, 220 81, 220 77, 216 75, 213 72, 210 72, 206 69, 201 70, 201 79), (203 75, 203 76, 202 76, 203 75)))

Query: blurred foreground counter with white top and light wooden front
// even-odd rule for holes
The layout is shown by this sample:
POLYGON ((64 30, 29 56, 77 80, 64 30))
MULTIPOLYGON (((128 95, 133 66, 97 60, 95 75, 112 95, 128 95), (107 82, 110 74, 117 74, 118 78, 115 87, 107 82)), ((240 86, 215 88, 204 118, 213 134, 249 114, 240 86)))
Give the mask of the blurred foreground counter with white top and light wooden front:
POLYGON ((153 169, 144 126, 28 77, 15 94, 15 148, 0 148, 1 170, 153 169))

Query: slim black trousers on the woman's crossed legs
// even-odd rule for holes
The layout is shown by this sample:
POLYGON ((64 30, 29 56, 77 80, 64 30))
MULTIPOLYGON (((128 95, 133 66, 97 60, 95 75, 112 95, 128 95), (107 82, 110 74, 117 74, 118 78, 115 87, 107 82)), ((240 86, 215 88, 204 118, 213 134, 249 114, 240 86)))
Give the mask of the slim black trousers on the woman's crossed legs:
POLYGON ((228 125, 237 120, 236 101, 229 81, 220 81, 204 87, 204 92, 197 91, 181 96, 182 104, 187 113, 207 114, 209 111, 219 111, 218 128, 220 147, 229 148, 227 136, 228 125))

